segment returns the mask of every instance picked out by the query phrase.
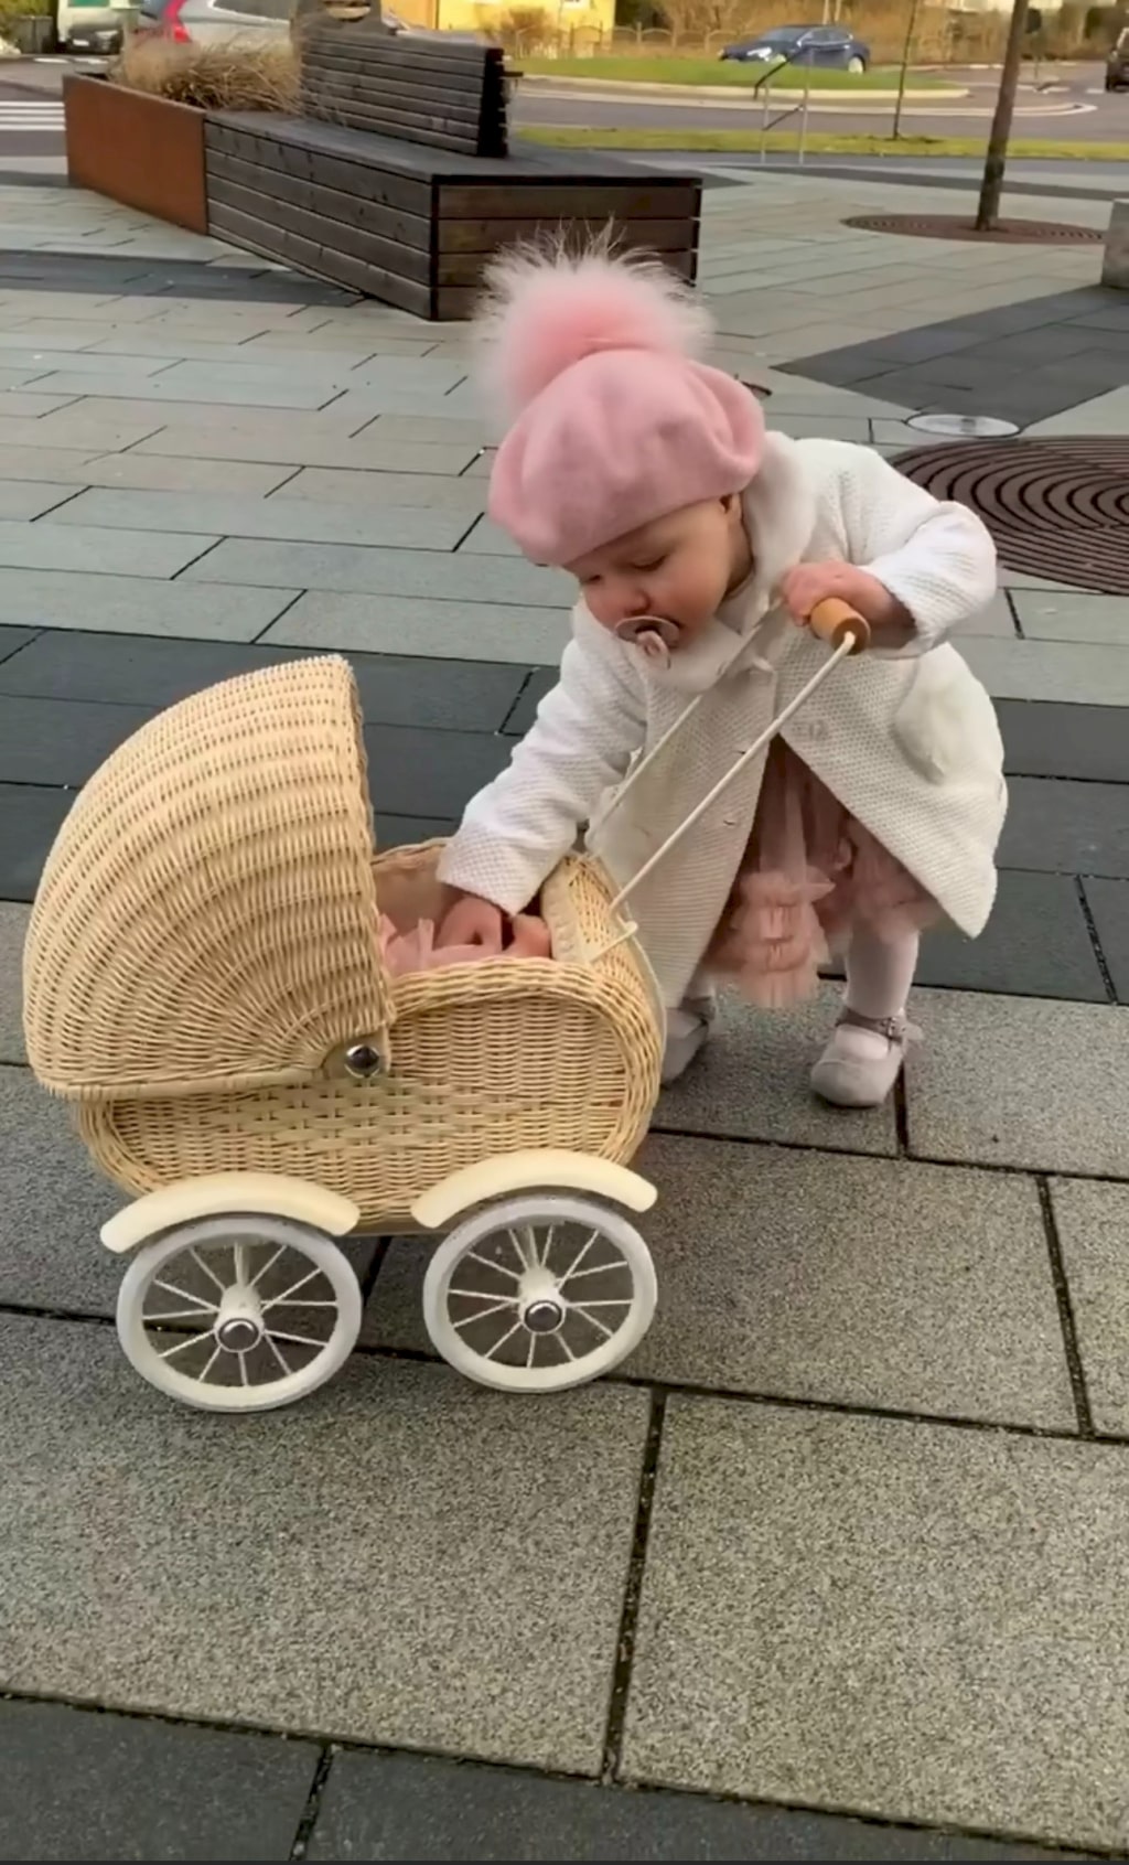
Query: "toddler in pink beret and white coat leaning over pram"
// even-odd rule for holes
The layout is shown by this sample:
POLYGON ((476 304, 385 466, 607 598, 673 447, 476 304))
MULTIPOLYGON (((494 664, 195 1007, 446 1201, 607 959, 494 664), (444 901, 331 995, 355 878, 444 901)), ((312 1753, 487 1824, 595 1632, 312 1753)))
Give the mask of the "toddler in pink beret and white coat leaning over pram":
POLYGON ((868 448, 766 433, 755 394, 701 360, 710 332, 658 263, 605 246, 492 267, 479 379, 509 429, 490 517, 579 599, 559 684, 443 852, 445 938, 497 947, 581 828, 633 878, 823 664, 805 623, 840 597, 870 653, 747 765, 632 918, 667 1003, 665 1080, 708 1035, 715 977, 771 1007, 814 992, 842 949, 812 1085, 877 1106, 911 1033, 920 929, 974 936, 995 897, 1000 735, 943 645, 989 602, 995 552, 973 513, 868 448))

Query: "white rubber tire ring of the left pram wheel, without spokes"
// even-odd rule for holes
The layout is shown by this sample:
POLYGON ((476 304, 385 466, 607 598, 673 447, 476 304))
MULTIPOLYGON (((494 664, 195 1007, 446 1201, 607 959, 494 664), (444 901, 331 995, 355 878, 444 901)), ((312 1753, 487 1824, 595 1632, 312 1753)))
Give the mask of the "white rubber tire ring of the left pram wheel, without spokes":
POLYGON ((248 1218, 197 1218, 177 1225, 138 1250, 117 1291, 117 1339, 125 1358, 151 1386, 201 1412, 272 1412, 317 1391, 345 1365, 361 1332, 361 1291, 348 1257, 322 1231, 289 1218, 255 1212, 248 1218), (315 1264, 333 1289, 337 1319, 324 1348, 306 1367, 261 1386, 207 1386, 156 1352, 145 1332, 145 1294, 175 1257, 199 1244, 224 1242, 231 1233, 253 1233, 266 1246, 285 1246, 315 1264))

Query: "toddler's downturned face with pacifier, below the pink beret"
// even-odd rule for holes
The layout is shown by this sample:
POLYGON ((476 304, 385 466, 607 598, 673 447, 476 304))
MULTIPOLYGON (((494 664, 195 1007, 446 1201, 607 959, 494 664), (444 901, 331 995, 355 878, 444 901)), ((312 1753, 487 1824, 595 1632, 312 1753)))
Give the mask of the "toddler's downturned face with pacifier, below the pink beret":
POLYGON ((684 636, 717 614, 749 567, 736 494, 684 505, 566 565, 604 629, 615 630, 637 615, 660 615, 676 623, 684 636))

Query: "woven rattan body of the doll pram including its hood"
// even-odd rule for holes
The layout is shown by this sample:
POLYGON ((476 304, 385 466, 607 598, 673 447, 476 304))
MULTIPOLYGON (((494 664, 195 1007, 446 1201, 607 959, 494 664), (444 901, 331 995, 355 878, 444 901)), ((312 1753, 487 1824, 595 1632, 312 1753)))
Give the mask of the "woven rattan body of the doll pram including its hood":
POLYGON ((129 739, 60 830, 24 953, 32 1067, 101 1167, 132 1194, 287 1173, 384 1227, 497 1154, 630 1158, 661 1041, 604 875, 570 858, 546 884, 551 960, 389 979, 378 901, 427 912, 436 854, 374 854, 343 660, 225 681, 129 739), (367 1082, 358 1041, 386 1054, 367 1082))

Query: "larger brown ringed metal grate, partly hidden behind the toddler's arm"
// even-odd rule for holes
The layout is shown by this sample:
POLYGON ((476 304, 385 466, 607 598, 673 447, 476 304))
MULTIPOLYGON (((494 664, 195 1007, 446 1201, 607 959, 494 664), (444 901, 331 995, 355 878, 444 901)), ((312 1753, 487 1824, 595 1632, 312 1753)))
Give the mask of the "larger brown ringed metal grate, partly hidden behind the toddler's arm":
POLYGON ((1129 440, 948 442, 894 466, 971 505, 1008 569, 1129 595, 1129 440))

